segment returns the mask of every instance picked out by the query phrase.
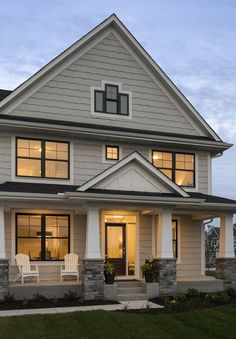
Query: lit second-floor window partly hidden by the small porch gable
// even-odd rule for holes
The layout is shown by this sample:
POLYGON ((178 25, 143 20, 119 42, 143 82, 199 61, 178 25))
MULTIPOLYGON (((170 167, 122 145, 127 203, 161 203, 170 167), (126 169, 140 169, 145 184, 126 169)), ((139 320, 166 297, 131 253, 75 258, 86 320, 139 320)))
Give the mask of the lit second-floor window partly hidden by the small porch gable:
POLYGON ((152 163, 177 185, 195 186, 194 154, 153 151, 152 163))

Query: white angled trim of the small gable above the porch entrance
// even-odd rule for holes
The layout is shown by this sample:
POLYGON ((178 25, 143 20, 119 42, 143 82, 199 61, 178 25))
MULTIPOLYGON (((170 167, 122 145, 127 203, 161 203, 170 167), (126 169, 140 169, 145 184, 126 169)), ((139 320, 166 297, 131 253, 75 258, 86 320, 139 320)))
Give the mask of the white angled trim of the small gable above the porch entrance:
POLYGON ((157 168, 155 168, 147 159, 143 158, 138 152, 133 152, 130 155, 128 155, 126 158, 123 158, 113 166, 106 169, 104 172, 100 173, 93 179, 89 180, 87 183, 82 185, 77 189, 77 191, 84 192, 87 189, 91 188, 92 186, 96 185, 101 180, 107 178, 112 173, 117 171, 118 169, 122 168, 126 164, 128 164, 131 161, 137 161, 140 165, 142 165, 148 172, 151 172, 152 175, 154 175, 158 180, 160 180, 164 185, 166 185, 169 189, 172 191, 177 192, 182 197, 189 197, 189 195, 178 185, 173 183, 169 178, 167 178, 161 171, 159 171, 157 168))

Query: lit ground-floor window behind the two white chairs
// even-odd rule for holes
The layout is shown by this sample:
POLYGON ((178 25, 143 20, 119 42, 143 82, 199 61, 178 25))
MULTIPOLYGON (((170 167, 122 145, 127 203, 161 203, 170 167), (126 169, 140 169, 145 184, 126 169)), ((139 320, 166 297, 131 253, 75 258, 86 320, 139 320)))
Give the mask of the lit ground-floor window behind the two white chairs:
POLYGON ((70 252, 70 216, 16 214, 16 253, 30 260, 63 260, 70 252))

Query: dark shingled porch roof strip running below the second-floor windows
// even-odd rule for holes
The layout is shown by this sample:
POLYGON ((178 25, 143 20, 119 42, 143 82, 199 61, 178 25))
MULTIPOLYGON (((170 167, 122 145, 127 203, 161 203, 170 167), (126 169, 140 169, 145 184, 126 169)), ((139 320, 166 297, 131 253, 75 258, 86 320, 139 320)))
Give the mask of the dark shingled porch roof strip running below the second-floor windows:
MULTIPOLYGON (((0 184, 0 193, 32 193, 32 194, 63 194, 63 193, 93 193, 93 194, 109 194, 109 195, 130 195, 135 196, 139 195, 142 197, 166 197, 174 199, 183 199, 178 194, 168 194, 168 193, 154 193, 154 192, 131 192, 131 191, 116 191, 116 190, 104 190, 104 189, 88 189, 86 192, 78 192, 77 185, 57 185, 57 184, 40 184, 40 183, 26 183, 26 182, 10 182, 7 181, 3 184, 0 184)), ((212 203, 215 201, 215 204, 232 204, 236 205, 236 200, 230 200, 218 196, 207 195, 203 193, 193 193, 189 192, 189 197, 184 198, 185 201, 201 200, 203 203, 212 203), (196 197, 197 194, 197 197, 196 197)))

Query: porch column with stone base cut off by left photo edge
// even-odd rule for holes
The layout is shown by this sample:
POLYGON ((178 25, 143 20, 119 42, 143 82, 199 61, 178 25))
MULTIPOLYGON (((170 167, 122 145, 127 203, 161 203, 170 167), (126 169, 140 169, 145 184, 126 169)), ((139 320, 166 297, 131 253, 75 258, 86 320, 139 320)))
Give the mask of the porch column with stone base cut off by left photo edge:
POLYGON ((0 206, 0 299, 8 293, 8 260, 5 248, 4 207, 0 206))

